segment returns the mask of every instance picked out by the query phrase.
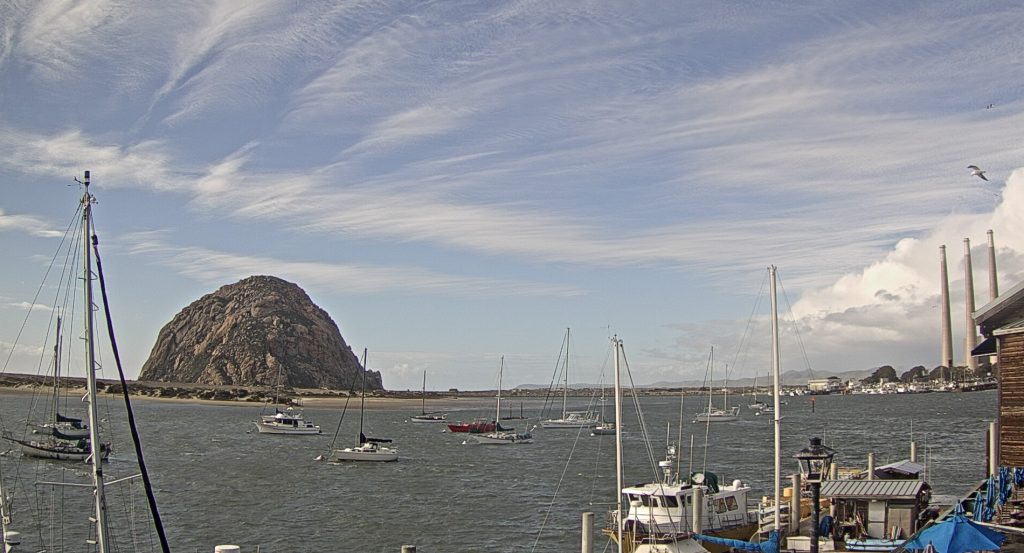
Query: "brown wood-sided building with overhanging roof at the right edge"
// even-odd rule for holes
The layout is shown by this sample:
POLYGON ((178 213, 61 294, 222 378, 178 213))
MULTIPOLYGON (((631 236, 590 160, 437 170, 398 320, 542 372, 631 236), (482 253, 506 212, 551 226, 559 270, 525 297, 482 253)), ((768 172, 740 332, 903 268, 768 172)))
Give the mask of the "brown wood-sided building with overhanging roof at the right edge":
POLYGON ((1024 466, 1024 283, 974 312, 985 340, 972 354, 998 365, 996 466, 1024 466))

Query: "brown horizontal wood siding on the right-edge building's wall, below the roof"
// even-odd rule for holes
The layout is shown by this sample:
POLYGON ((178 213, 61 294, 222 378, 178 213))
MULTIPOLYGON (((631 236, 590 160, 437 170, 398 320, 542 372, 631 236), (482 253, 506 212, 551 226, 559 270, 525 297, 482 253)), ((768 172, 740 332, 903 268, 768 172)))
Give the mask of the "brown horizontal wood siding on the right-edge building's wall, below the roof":
POLYGON ((1024 334, 999 337, 999 464, 1024 467, 1024 334))

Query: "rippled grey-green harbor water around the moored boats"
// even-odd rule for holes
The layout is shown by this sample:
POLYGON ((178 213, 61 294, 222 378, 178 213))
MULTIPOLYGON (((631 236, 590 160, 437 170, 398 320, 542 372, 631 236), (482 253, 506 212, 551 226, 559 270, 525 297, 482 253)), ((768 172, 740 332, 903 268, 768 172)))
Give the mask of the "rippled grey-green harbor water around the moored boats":
MULTIPOLYGON (((796 470, 792 455, 812 435, 836 449, 845 467, 865 466, 868 453, 878 465, 906 459, 912 435, 937 495, 961 496, 984 476, 985 432, 995 417, 993 391, 815 396, 813 411, 809 396, 788 400, 783 406, 783 474, 796 470)), ((4 427, 20 432, 30 397, 2 395, 0 401, 4 427)), ((680 401, 641 401, 656 462, 667 436, 678 437, 680 401)), ((585 407, 587 399, 577 402, 585 407)), ((453 403, 458 409, 449 411, 452 420, 493 410, 484 400, 453 403)), ((526 401, 526 414, 541 405, 526 401)), ((743 408, 743 420, 713 424, 708 433, 707 425, 690 423, 702 406, 697 397, 683 402, 684 471, 715 472, 722 481, 751 483, 758 496, 771 494, 771 419, 743 408)), ((366 413, 367 434, 393 438, 401 454, 397 463, 330 464, 314 458, 330 448, 341 410, 305 410, 306 418, 324 428, 321 436, 273 436, 254 430, 251 421, 259 406, 136 400, 134 407, 173 551, 210 552, 218 544, 240 545, 245 553, 257 547, 396 553, 403 544, 421 552, 579 551, 581 513, 595 512, 601 524, 615 499, 612 436, 537 429, 531 444, 464 444, 465 434, 442 432, 444 425, 409 423, 408 417, 419 412, 419 405, 410 405, 366 413)), ((114 405, 109 409, 103 416, 114 432, 115 455, 104 470, 108 478, 116 478, 133 471, 134 456, 118 422, 122 412, 114 405)), ((626 409, 626 481, 650 480, 654 465, 634 409, 626 409)), ((338 446, 348 446, 357 433, 358 412, 350 409, 341 422, 338 446)), ((83 481, 86 468, 24 459, 15 452, 0 462, 5 488, 15 494, 22 550, 84 550, 84 512, 65 514, 58 526, 47 522, 37 528, 33 521, 77 501, 88 509, 89 499, 80 499, 84 494, 77 488, 37 495, 52 486, 33 482, 83 481)), ((112 485, 111 518, 126 519, 142 508, 139 494, 137 484, 112 485)), ((118 531, 128 530, 119 526, 118 531)), ((156 542, 147 537, 124 547, 142 551, 156 548, 156 542)), ((603 539, 597 550, 602 548, 603 539)))

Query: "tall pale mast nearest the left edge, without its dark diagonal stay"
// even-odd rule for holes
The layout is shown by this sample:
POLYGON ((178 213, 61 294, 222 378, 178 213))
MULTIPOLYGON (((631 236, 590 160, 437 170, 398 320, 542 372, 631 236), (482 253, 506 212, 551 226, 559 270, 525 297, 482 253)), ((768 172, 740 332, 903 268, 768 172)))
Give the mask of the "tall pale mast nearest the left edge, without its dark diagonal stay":
POLYGON ((92 485, 95 499, 96 551, 106 553, 106 501, 103 495, 102 442, 99 441, 99 414, 96 410, 96 356, 92 330, 92 257, 89 246, 92 233, 92 204, 89 171, 85 172, 82 196, 82 281, 85 295, 85 382, 89 401, 89 448, 92 460, 92 485))

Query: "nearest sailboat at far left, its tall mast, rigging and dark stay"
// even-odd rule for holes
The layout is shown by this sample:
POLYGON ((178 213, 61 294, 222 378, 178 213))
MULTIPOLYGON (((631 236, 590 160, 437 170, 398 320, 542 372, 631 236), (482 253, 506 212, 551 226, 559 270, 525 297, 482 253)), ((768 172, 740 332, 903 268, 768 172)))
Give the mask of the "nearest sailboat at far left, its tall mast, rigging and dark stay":
MULTIPOLYGON (((78 179, 76 179, 78 181, 78 179)), ((127 516, 129 512, 135 510, 135 506, 131 505, 131 501, 125 504, 119 504, 124 507, 124 511, 109 511, 106 505, 106 488, 113 485, 128 485, 129 482, 135 481, 139 476, 141 477, 142 485, 145 491, 145 499, 148 503, 148 511, 152 516, 153 523, 155 525, 156 534, 160 541, 161 549, 164 553, 169 553, 170 548, 168 546, 167 537, 164 533, 164 528, 161 522, 160 513, 157 509, 156 498, 153 492, 153 485, 150 479, 148 472, 145 468, 145 461, 142 455, 141 439, 139 437, 138 428, 135 424, 134 413, 131 409, 131 400, 129 397, 128 384, 124 376, 124 371, 122 370, 121 358, 117 348, 117 342, 114 336, 114 327, 111 317, 110 306, 106 301, 106 290, 103 280, 103 269, 102 264, 99 260, 99 241, 98 238, 92 232, 92 205, 95 203, 95 198, 89 192, 90 175, 89 171, 85 172, 85 177, 83 180, 78 181, 83 185, 84 193, 80 203, 81 214, 81 242, 71 248, 81 247, 81 264, 76 265, 76 270, 81 270, 80 281, 82 283, 83 289, 83 316, 85 320, 85 327, 83 330, 82 338, 85 345, 85 382, 86 382, 86 393, 82 400, 86 403, 86 413, 88 417, 88 436, 81 438, 83 441, 88 443, 101 443, 99 436, 99 414, 96 401, 96 371, 99 369, 99 365, 96 361, 96 344, 95 344, 95 333, 93 331, 93 318, 94 311, 97 305, 93 301, 93 282, 94 280, 99 281, 100 292, 102 297, 102 307, 103 313, 106 320, 108 335, 111 339, 111 348, 113 350, 113 357, 117 365, 118 374, 120 377, 121 387, 122 387, 122 397, 125 402, 127 423, 131 433, 131 437, 134 443, 134 454, 138 461, 138 468, 140 474, 129 475, 123 478, 118 478, 114 480, 105 480, 104 467, 103 467, 103 457, 102 455, 91 455, 86 454, 86 461, 89 463, 90 468, 90 482, 88 484, 80 483, 76 481, 42 481, 36 482, 35 488, 38 493, 44 493, 45 490, 50 491, 50 493, 57 497, 65 498, 65 496, 74 495, 73 492, 66 492, 66 490, 78 490, 78 488, 88 488, 90 493, 89 503, 91 503, 91 512, 88 513, 86 517, 81 511, 76 510, 76 517, 81 517, 81 520, 85 522, 88 520, 89 529, 87 533, 83 533, 87 536, 87 543, 89 544, 89 550, 95 551, 97 553, 106 553, 108 551, 113 551, 116 549, 135 550, 137 544, 132 543, 116 543, 118 540, 127 538, 125 533, 115 531, 117 528, 112 528, 112 518, 113 516, 127 516), (95 252, 95 257, 92 256, 92 251, 95 252), (93 262, 93 259, 95 262, 93 262)), ((77 230, 77 228, 76 228, 77 230)), ((66 237, 67 238, 67 237, 66 237)), ((74 240, 68 241, 68 243, 75 242, 74 240)), ((65 244, 65 243, 61 243, 65 244)), ((71 255, 71 251, 68 252, 71 255)), ((71 279, 68 282, 72 282, 71 279)), ((84 426, 84 425, 83 425, 84 426)), ((100 451, 109 452, 109 446, 104 445, 100 451)), ((27 455, 31 455, 31 451, 23 450, 27 455)), ((0 460, 7 460, 9 458, 2 458, 0 460)), ((123 465, 122 465, 123 466, 123 465)), ((69 473, 71 475, 71 473, 69 473)), ((0 487, 3 483, 0 482, 0 487)), ((127 495, 127 494, 126 494, 127 495)), ((69 497, 69 499, 71 499, 69 497)), ((83 498, 84 499, 84 498, 83 498)), ((122 500, 124 498, 121 498, 122 500)), ((39 501, 39 500, 37 500, 39 501)), ((43 504, 46 504, 46 500, 42 500, 43 504)), ((63 550, 66 539, 66 530, 70 529, 66 520, 51 520, 50 525, 47 526, 43 515, 49 513, 49 515, 59 515, 60 502, 49 504, 48 509, 40 509, 37 514, 40 517, 34 521, 30 521, 30 525, 35 526, 34 531, 27 534, 27 536, 36 536, 39 540, 45 540, 45 536, 49 535, 50 538, 60 540, 59 544, 52 544, 51 547, 46 546, 35 546, 33 550, 63 550)), ((74 502, 72 502, 74 503, 74 502)), ((9 496, 5 491, 0 490, 0 521, 2 521, 3 539, 4 539, 4 551, 10 551, 15 545, 20 542, 20 536, 18 533, 11 529, 12 526, 12 513, 10 511, 9 496)), ((135 535, 133 530, 141 529, 140 526, 136 526, 134 523, 131 524, 132 530, 129 530, 131 538, 139 538, 135 535)), ((72 534, 68 534, 70 538, 72 534)), ((68 544, 71 546, 71 544, 68 544)), ((71 546, 73 549, 77 549, 71 546)))

